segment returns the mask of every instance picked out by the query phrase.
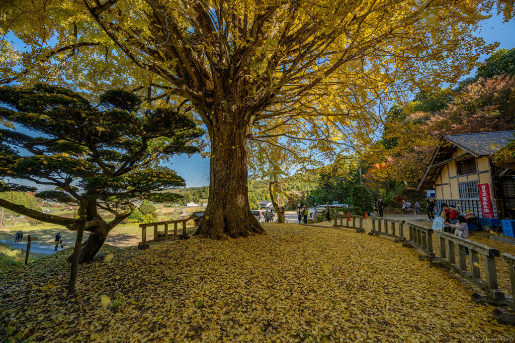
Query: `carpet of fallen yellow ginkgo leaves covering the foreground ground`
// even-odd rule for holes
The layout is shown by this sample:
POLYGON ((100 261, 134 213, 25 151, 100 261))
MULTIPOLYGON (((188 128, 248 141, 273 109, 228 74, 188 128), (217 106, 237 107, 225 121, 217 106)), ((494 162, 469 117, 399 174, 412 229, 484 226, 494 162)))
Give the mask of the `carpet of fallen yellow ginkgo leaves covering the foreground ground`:
POLYGON ((30 341, 505 340, 492 306, 383 237, 264 224, 247 239, 104 247, 67 300, 66 251, 2 276, 0 337, 30 341))

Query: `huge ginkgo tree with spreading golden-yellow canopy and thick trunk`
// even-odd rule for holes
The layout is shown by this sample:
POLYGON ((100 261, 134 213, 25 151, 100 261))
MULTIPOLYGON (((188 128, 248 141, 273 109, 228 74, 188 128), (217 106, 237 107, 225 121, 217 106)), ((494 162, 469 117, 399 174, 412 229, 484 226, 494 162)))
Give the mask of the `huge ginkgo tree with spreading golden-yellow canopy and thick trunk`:
POLYGON ((4 3, 1 82, 92 94, 115 83, 203 122, 211 171, 198 233, 212 238, 263 232, 249 152, 255 167, 272 146, 311 163, 366 146, 388 101, 468 73, 496 47, 475 37, 480 21, 513 14, 502 0, 4 3))

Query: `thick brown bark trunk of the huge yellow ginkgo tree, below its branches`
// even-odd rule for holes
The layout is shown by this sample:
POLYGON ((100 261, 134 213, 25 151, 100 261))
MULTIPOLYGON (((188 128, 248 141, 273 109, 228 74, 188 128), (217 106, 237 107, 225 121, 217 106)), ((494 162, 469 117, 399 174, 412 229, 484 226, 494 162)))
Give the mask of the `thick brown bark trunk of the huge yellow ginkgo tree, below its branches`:
POLYGON ((220 121, 211 139, 208 207, 195 234, 221 239, 264 233, 248 200, 246 125, 220 121))

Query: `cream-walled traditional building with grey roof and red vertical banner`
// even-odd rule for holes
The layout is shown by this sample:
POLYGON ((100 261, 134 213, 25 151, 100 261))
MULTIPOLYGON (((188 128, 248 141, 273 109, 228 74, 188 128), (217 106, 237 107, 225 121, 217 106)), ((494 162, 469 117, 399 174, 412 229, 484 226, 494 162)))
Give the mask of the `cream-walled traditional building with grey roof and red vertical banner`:
POLYGON ((480 218, 515 218, 515 170, 498 168, 490 158, 514 133, 442 136, 417 190, 435 190, 437 209, 447 203, 480 218))

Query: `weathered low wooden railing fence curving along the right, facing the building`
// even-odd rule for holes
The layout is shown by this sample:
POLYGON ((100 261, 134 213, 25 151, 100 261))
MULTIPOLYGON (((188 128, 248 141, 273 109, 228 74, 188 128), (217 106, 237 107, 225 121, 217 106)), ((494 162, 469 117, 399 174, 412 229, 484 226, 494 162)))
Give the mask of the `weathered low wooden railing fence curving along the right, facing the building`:
MULTIPOLYGON (((365 232, 363 229, 362 216, 357 215, 335 215, 334 226, 356 229, 356 232, 365 232), (352 220, 349 220, 350 219, 352 220), (358 225, 356 226, 356 220, 358 225)), ((488 302, 498 305, 507 305, 515 312, 515 256, 502 254, 497 249, 488 247, 474 241, 454 236, 441 230, 433 230, 415 223, 406 223, 403 220, 387 218, 370 218, 372 230, 369 234, 384 235, 396 239, 396 242, 403 242, 404 246, 416 248, 422 255, 419 259, 430 260, 436 265, 442 264, 460 275, 470 283, 479 287, 486 296, 474 293, 472 300, 476 302, 488 302), (404 225, 409 228, 408 237, 404 237, 404 225), (398 230, 397 230, 398 228, 398 230), (438 250, 433 249, 433 238, 438 239, 438 250), (469 250, 469 266, 467 266, 466 249, 469 250), (483 256, 483 266, 485 269, 482 275, 479 268, 479 258, 483 256), (497 282, 497 267, 495 257, 501 257, 502 262, 508 264, 511 283, 511 297, 499 290, 497 282)), ((515 315, 502 309, 496 309, 492 315, 499 322, 515 323, 515 315)))

